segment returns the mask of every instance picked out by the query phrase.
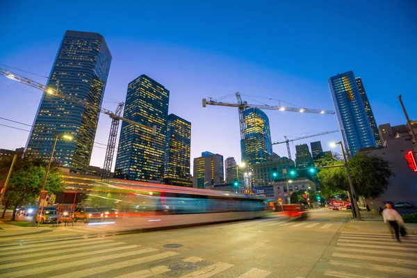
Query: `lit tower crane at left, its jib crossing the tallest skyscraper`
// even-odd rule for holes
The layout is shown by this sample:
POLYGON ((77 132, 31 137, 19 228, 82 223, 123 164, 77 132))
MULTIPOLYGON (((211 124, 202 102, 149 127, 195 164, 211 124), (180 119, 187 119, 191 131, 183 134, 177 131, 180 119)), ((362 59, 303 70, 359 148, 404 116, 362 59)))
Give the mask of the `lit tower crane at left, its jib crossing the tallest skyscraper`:
POLYGON ((72 95, 68 95, 65 92, 62 92, 59 90, 59 81, 57 81, 56 88, 47 87, 47 85, 44 85, 42 83, 38 83, 36 81, 33 81, 31 79, 28 79, 24 76, 21 76, 19 74, 16 74, 14 72, 10 72, 9 70, 5 70, 0 67, 0 75, 3 75, 7 77, 8 79, 13 79, 17 82, 29 85, 33 88, 36 88, 38 90, 42 90, 44 92, 47 92, 50 95, 54 95, 56 97, 60 97, 61 99, 66 99, 68 101, 72 101, 76 104, 79 104, 80 106, 89 107, 92 109, 95 109, 96 111, 99 111, 101 113, 104 113, 111 117, 111 127, 110 127, 110 134, 108 136, 108 143, 107 143, 107 149, 106 149, 106 156, 104 158, 104 166, 103 166, 103 174, 101 175, 101 181, 108 181, 110 179, 111 175, 111 165, 113 163, 113 155, 115 152, 116 147, 116 139, 117 139, 117 130, 119 129, 119 123, 120 120, 124 122, 129 122, 130 124, 134 124, 136 126, 141 127, 142 129, 147 129, 148 131, 151 131, 152 134, 155 134, 156 132, 156 126, 145 126, 144 124, 139 124, 137 122, 134 122, 132 120, 126 119, 125 117, 122 117, 122 110, 124 106, 124 102, 120 102, 117 104, 117 108, 115 112, 112 112, 110 110, 107 110, 105 108, 102 108, 101 106, 95 106, 92 104, 89 104, 86 101, 83 101, 83 99, 79 99, 77 97, 73 97, 72 95))

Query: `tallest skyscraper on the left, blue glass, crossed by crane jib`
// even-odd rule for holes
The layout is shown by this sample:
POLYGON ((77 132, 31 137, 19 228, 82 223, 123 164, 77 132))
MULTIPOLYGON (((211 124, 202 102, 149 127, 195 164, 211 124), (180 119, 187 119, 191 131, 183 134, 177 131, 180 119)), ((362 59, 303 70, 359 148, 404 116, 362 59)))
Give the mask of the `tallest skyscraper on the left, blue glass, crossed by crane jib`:
POLYGON ((111 54, 99 33, 67 31, 58 49, 47 86, 84 101, 86 106, 44 92, 26 151, 35 156, 51 156, 56 133, 54 159, 71 172, 86 172, 99 121, 98 106, 110 70, 111 54))

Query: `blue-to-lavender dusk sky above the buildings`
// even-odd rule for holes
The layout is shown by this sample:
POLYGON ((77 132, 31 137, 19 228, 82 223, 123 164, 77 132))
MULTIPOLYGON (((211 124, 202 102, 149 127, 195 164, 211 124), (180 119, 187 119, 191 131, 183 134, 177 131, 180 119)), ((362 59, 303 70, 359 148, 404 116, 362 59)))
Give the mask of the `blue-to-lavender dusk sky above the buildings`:
MULTIPOLYGON (((169 113, 192 124, 191 164, 201 152, 240 162, 238 109, 202 107, 213 97, 236 103, 334 110, 327 79, 361 77, 377 124, 405 124, 398 95, 417 120, 417 2, 403 1, 0 1, 0 67, 47 83, 65 31, 104 36, 113 60, 103 107, 125 101, 141 74, 170 90, 169 113), (6 66, 8 67, 6 67, 6 66), (26 72, 10 69, 15 67, 26 72), (34 75, 34 74, 38 75, 34 75), (288 104, 288 105, 289 105, 288 104)), ((0 117, 32 124, 42 92, 0 76, 0 117)), ((265 111, 272 142, 339 129, 336 115, 265 111)), ((30 129, 0 118, 0 124, 30 129)), ((101 114, 95 142, 107 143, 101 114)), ((24 147, 28 132, 0 126, 0 149, 24 147)), ((291 142, 341 140, 332 133, 291 142)), ((102 167, 95 144, 90 164, 102 167)), ((287 156, 285 144, 273 151, 287 156)), ((114 166, 114 164, 113 164, 114 166)))

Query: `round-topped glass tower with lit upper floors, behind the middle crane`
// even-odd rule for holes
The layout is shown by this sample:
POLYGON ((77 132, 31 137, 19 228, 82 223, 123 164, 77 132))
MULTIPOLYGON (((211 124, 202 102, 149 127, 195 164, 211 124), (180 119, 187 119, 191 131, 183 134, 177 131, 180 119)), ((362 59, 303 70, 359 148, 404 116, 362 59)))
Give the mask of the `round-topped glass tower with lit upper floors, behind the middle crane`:
POLYGON ((240 142, 242 162, 251 171, 252 165, 265 161, 272 154, 272 142, 268 117, 258 108, 245 111, 245 139, 240 142))

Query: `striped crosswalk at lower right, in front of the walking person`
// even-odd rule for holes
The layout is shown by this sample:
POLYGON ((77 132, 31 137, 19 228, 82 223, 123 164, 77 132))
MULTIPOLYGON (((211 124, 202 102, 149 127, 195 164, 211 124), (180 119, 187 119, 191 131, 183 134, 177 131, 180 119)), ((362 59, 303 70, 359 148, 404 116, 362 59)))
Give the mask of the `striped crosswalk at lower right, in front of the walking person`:
POLYGON ((325 260, 325 277, 417 277, 417 236, 342 232, 325 260))

